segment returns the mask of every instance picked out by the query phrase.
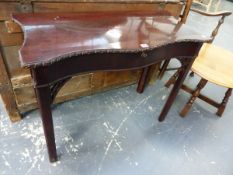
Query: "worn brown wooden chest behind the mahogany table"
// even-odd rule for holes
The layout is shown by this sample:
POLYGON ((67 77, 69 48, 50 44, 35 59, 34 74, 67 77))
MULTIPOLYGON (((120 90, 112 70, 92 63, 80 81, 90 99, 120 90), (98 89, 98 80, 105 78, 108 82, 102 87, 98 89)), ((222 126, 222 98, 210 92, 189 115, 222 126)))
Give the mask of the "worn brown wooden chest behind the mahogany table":
MULTIPOLYGON (((12 13, 27 12, 93 12, 93 11, 155 11, 167 9, 185 20, 191 1, 151 0, 0 0, 0 93, 11 121, 37 107, 30 72, 21 68, 18 50, 23 44, 21 28, 11 21, 12 13)), ((151 69, 156 79, 159 65, 151 69)), ((59 92, 55 103, 90 95, 137 82, 141 70, 95 72, 72 78, 59 92)))

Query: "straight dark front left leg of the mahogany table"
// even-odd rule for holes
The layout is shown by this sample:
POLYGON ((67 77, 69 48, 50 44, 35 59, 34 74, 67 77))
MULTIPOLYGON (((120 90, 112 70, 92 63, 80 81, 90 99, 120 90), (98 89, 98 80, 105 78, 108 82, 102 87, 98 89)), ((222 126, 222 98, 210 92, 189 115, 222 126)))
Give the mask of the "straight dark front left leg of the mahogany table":
POLYGON ((53 118, 51 112, 51 95, 49 87, 35 88, 38 106, 41 113, 42 124, 44 128, 45 139, 48 148, 50 162, 57 161, 57 151, 54 138, 53 118))

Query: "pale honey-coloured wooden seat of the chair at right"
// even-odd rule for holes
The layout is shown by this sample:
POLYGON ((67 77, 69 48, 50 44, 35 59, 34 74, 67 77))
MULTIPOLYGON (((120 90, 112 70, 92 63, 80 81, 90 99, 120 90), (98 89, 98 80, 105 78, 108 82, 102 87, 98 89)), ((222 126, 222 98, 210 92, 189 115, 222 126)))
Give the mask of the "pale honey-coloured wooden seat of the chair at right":
POLYGON ((233 88, 233 53, 226 49, 203 44, 191 69, 212 83, 233 88))

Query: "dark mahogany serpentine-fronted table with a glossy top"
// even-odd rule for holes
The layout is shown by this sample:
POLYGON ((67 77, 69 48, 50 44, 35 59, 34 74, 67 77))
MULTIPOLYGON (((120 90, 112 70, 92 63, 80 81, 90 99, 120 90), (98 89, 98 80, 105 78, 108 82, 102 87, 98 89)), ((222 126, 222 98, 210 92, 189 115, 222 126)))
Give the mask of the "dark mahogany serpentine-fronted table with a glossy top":
POLYGON ((167 115, 203 42, 209 40, 168 12, 98 12, 15 14, 24 31, 20 62, 34 81, 49 159, 57 160, 51 104, 74 75, 93 71, 143 68, 177 58, 183 69, 159 116, 167 115))

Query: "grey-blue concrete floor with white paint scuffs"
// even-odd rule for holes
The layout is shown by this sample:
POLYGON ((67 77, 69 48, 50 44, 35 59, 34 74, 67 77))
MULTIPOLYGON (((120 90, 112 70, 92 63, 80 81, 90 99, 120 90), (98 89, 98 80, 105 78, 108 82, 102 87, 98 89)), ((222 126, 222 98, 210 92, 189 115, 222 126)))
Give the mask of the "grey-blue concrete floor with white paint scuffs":
MULTIPOLYGON (((223 1, 233 11, 233 3, 223 1)), ((213 27, 193 13, 192 23, 203 33, 213 27)), ((215 43, 233 51, 233 16, 215 43)), ((176 63, 172 63, 176 64, 176 63)), ((222 118, 197 101, 186 118, 179 111, 188 94, 180 92, 166 120, 157 117, 169 93, 163 84, 143 94, 135 85, 57 105, 53 109, 59 161, 49 163, 38 111, 10 123, 0 104, 0 175, 232 175, 233 101, 222 118)), ((195 86, 199 78, 187 78, 195 86)), ((224 88, 209 84, 204 94, 221 100, 224 88)))

